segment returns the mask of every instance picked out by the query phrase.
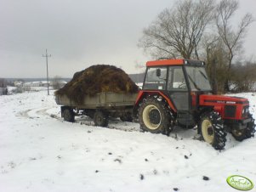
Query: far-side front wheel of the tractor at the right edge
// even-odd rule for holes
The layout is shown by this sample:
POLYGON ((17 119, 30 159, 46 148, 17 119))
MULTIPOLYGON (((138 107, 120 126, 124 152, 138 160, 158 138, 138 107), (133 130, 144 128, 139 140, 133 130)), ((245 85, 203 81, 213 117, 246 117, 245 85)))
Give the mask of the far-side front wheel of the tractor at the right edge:
POLYGON ((251 118, 251 121, 247 123, 247 127, 242 130, 232 130, 231 134, 233 135, 234 138, 236 138, 237 141, 242 141, 247 138, 252 138, 254 137, 255 133, 255 124, 254 124, 254 119, 252 114, 249 114, 248 117, 251 118))

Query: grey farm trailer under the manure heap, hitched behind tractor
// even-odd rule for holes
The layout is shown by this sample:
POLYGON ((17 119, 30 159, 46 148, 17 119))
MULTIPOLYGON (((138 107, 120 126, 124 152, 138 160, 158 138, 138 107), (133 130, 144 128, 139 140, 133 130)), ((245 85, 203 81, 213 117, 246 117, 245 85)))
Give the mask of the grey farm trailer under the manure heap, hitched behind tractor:
POLYGON ((55 94, 60 104, 64 121, 75 121, 75 116, 86 115, 94 120, 95 126, 107 127, 110 117, 120 117, 122 121, 133 121, 133 108, 137 93, 102 92, 94 96, 85 95, 82 103, 77 104, 65 94, 55 94))

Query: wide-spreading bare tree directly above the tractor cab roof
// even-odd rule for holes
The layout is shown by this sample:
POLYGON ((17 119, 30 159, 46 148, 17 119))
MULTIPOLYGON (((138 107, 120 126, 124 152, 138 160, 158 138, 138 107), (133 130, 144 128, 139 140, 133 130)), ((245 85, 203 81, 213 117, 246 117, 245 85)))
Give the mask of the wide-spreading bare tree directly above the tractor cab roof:
POLYGON ((144 29, 139 47, 154 58, 199 59, 199 43, 213 20, 213 8, 211 0, 177 1, 144 29))

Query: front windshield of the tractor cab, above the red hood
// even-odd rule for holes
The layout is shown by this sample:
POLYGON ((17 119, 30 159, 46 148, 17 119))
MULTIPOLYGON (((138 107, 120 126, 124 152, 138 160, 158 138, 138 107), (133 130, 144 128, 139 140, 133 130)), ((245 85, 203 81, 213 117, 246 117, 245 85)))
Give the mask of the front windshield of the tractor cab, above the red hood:
POLYGON ((192 91, 211 91, 211 85, 204 67, 185 67, 192 91))

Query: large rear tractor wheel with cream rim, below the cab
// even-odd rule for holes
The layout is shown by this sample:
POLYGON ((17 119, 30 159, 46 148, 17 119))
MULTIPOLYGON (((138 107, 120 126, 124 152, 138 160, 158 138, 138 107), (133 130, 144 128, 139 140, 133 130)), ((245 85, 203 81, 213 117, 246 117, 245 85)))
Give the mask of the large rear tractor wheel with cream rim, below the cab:
POLYGON ((145 99, 139 106, 140 128, 146 132, 168 134, 171 122, 167 104, 157 98, 145 99))

